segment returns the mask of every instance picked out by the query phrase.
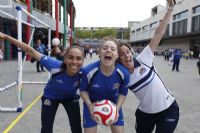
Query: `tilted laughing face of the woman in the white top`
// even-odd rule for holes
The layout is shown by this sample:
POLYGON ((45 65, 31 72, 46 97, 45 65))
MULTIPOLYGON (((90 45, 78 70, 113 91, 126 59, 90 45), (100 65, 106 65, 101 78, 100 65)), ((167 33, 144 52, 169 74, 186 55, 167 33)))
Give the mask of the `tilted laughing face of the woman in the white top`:
POLYGON ((126 45, 121 45, 119 47, 119 61, 122 63, 126 68, 133 69, 133 55, 131 49, 126 45))

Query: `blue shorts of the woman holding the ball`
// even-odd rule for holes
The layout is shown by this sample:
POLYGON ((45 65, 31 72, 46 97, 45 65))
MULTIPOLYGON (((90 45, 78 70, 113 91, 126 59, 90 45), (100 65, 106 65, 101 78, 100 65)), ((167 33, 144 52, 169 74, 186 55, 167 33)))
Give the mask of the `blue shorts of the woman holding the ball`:
MULTIPOLYGON (((87 105, 84 103, 83 104, 83 127, 91 128, 91 127, 95 127, 97 125, 98 125, 98 123, 91 118, 90 111, 89 111, 87 105)), ((120 110, 119 110, 119 117, 118 117, 117 122, 115 122, 113 125, 124 126, 124 117, 123 117, 122 108, 120 108, 120 110)))

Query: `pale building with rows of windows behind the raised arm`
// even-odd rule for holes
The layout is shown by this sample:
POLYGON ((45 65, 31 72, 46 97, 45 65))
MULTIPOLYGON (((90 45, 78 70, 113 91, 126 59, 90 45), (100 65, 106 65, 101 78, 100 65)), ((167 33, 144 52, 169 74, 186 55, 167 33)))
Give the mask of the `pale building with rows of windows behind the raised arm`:
MULTIPOLYGON (((158 50, 180 48, 183 52, 193 50, 200 53, 200 0, 176 0, 173 16, 158 50)), ((151 17, 131 26, 130 42, 133 47, 144 47, 167 11, 166 6, 157 5, 151 10, 151 17)))

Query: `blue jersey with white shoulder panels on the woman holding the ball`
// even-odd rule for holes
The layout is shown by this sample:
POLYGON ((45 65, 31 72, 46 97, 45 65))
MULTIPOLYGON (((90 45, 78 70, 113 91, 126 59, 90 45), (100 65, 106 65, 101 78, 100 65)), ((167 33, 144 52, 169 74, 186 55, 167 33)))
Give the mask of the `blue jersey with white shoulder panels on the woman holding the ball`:
POLYGON ((105 76, 100 70, 100 61, 86 66, 83 70, 80 91, 88 91, 91 102, 103 99, 116 103, 119 94, 127 95, 129 72, 120 64, 110 76, 105 76))

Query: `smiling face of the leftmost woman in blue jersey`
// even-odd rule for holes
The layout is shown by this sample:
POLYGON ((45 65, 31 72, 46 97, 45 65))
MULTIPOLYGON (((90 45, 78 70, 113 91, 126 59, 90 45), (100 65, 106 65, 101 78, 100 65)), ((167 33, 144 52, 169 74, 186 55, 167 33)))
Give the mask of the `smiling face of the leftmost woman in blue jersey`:
POLYGON ((70 48, 66 51, 64 63, 69 76, 74 76, 83 65, 83 52, 79 48, 70 48))

